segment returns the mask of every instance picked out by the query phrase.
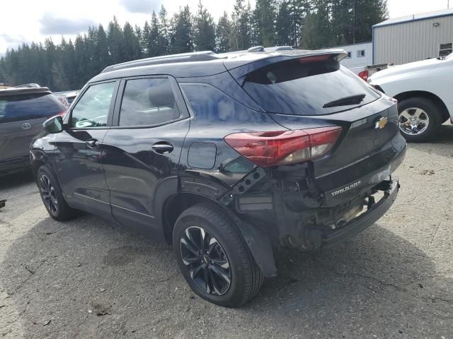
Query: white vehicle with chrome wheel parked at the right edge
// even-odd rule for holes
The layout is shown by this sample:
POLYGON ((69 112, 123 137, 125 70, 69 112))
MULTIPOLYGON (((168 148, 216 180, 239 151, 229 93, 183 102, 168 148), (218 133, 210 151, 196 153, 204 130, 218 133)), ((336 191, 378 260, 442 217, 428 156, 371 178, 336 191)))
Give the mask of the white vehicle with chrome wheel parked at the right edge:
POLYGON ((369 83, 398 100, 399 128, 407 141, 428 141, 453 119, 452 54, 392 66, 375 73, 369 83))

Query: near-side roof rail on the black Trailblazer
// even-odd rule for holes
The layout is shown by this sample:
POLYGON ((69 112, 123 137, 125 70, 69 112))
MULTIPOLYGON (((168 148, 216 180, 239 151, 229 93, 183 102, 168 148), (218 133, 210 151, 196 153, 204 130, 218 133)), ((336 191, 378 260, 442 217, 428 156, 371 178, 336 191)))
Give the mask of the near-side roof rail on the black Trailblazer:
POLYGON ((111 71, 117 71, 119 69, 129 69, 131 67, 139 66, 151 66, 159 64, 173 64, 177 62, 191 62, 191 61, 210 61, 217 59, 224 59, 225 57, 219 56, 219 54, 212 51, 203 52, 190 52, 181 54, 164 55, 161 57, 152 57, 147 59, 139 59, 134 61, 123 62, 122 64, 116 64, 105 67, 101 73, 107 73, 111 71))

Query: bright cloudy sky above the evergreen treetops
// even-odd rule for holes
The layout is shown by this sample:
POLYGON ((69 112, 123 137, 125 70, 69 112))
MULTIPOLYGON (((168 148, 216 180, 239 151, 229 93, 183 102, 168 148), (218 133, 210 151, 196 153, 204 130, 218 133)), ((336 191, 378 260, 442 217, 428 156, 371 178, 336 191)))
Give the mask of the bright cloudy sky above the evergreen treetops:
MULTIPOLYGON (((123 24, 143 26, 153 10, 163 4, 169 16, 180 6, 188 4, 195 12, 198 0, 0 0, 0 55, 22 42, 40 42, 52 37, 59 42, 86 32, 88 26, 108 21, 116 16, 123 24)), ((235 0, 202 0, 215 20, 224 11, 231 13, 235 0)), ((414 13, 447 8, 448 0, 388 0, 389 16, 408 16, 414 13)), ((251 0, 253 5, 255 1, 251 0)), ((450 8, 453 0, 450 0, 450 8)))

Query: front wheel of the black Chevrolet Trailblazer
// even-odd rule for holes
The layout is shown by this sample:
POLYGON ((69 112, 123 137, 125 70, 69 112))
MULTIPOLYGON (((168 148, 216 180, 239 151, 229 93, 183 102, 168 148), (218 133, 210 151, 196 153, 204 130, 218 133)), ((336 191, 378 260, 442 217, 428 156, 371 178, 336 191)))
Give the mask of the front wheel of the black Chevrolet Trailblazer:
POLYGON ((62 189, 52 170, 42 165, 36 174, 36 184, 47 213, 55 220, 64 221, 74 218, 77 210, 70 208, 63 198, 62 189))

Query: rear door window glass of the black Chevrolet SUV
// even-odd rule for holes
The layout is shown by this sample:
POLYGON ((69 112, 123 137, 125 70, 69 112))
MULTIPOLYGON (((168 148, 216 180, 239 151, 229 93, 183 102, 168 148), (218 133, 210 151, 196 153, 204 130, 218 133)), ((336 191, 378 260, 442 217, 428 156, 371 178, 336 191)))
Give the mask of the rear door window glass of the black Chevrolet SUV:
POLYGON ((178 119, 168 78, 128 80, 122 97, 120 126, 149 126, 178 119))

